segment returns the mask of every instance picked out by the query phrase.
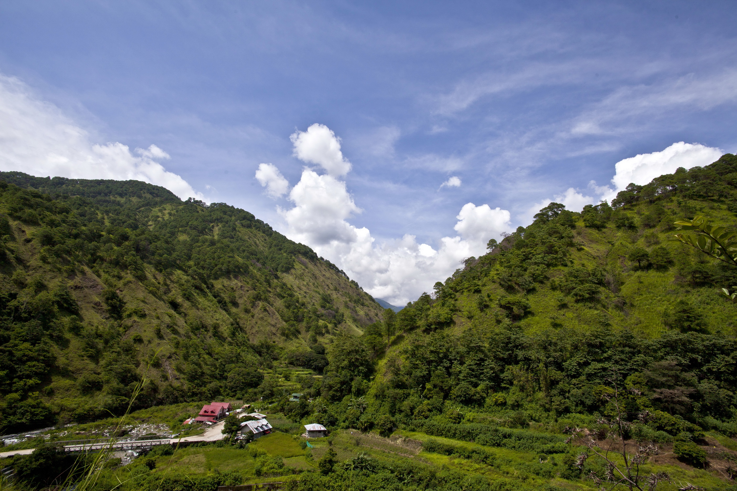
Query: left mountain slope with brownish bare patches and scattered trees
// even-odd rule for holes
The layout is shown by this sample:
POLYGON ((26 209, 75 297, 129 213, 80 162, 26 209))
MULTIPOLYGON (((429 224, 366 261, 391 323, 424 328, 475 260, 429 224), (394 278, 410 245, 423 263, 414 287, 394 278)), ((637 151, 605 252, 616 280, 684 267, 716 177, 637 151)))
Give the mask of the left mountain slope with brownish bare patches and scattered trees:
POLYGON ((0 424, 244 397, 276 358, 383 309, 337 267, 223 203, 137 181, 0 173, 0 424))

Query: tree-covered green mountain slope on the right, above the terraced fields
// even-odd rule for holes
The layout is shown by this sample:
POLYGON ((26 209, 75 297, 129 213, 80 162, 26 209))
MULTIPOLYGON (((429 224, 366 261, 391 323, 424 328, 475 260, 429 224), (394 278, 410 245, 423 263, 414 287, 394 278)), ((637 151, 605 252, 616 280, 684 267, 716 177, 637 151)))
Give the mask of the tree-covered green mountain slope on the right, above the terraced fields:
MULTIPOLYGON (((369 412, 411 428, 460 411, 559 431, 611 410, 601 395, 618 384, 642 392, 632 410, 662 418, 642 431, 737 434, 737 305, 721 291, 737 268, 671 240, 682 217, 734 230, 736 177, 727 154, 631 185, 613 208, 551 203, 491 241, 397 314, 369 412)), ((377 350, 380 330, 366 333, 377 350)))

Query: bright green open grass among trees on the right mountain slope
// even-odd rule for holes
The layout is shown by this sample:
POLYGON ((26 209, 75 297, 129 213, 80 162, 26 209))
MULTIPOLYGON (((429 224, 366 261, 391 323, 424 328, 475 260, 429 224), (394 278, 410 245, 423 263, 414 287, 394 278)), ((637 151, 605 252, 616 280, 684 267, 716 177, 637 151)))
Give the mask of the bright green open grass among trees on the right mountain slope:
MULTIPOLYGON (((679 258, 688 258, 702 264, 716 263, 701 252, 692 250, 677 241, 672 241, 674 226, 672 222, 682 216, 682 209, 690 206, 696 213, 706 214, 720 225, 736 228, 737 219, 734 213, 725 206, 710 202, 688 201, 677 205, 675 199, 666 199, 658 203, 668 212, 662 224, 654 228, 639 230, 619 229, 607 224, 601 229, 584 227, 579 220, 574 230, 576 241, 580 247, 571 250, 572 265, 592 268, 606 268, 616 278, 616 286, 605 292, 603 301, 598 305, 590 303, 573 303, 569 300, 567 307, 559 307, 557 300, 562 294, 551 289, 551 283, 537 284, 527 295, 531 303, 531 311, 520 321, 525 331, 541 331, 556 324, 580 330, 587 330, 595 325, 612 325, 614 328, 629 328, 646 336, 659 336, 667 330, 663 322, 663 314, 679 300, 702 306, 707 327, 710 333, 722 333, 726 336, 737 335, 737 318, 735 305, 722 294, 722 286, 693 286, 685 278, 678 275, 677 264, 666 269, 638 270, 636 264, 626 259, 626 255, 634 247, 652 250, 654 247, 666 247, 676 262, 679 258), (615 300, 624 300, 620 307, 615 300)), ((642 203, 627 206, 624 211, 638 220, 649 211, 652 205, 642 203)), ((692 212, 693 213, 693 212, 692 212)), ((557 266, 549 273, 551 278, 562 277, 568 266, 557 266)), ((504 290, 489 278, 483 288, 483 294, 489 293, 492 298, 505 294, 504 290)), ((458 295, 458 312, 454 317, 455 328, 459 331, 472 325, 485 325, 495 322, 498 311, 486 309, 481 313, 475 307, 475 294, 469 292, 458 295)))

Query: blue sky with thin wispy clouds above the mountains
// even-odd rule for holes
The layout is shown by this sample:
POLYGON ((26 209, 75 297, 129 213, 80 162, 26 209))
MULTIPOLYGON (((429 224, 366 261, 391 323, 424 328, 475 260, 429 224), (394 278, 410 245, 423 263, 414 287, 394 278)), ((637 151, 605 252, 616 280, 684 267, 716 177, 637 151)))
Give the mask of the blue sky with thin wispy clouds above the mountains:
MULTIPOLYGON (((456 218, 469 202, 509 211, 514 228, 568 188, 598 199, 590 181, 611 186, 625 158, 680 141, 735 152, 736 11, 728 1, 6 0, 0 74, 90 144, 156 145, 170 158, 151 158, 195 191, 291 236, 276 207, 299 204, 266 196, 254 173, 273 163, 301 182, 317 161, 296 158, 290 135, 324 124, 352 164, 338 177, 360 208, 340 220, 370 230, 374 247, 411 234, 408 247, 440 250, 443 237, 469 240, 456 218), (441 187, 454 176, 460 186, 441 187)), ((4 169, 23 165, 6 158, 4 169)), ((381 271, 352 266, 344 247, 310 245, 377 296, 403 302, 431 287, 428 277, 386 289, 405 281, 396 275, 372 286, 381 271)))

